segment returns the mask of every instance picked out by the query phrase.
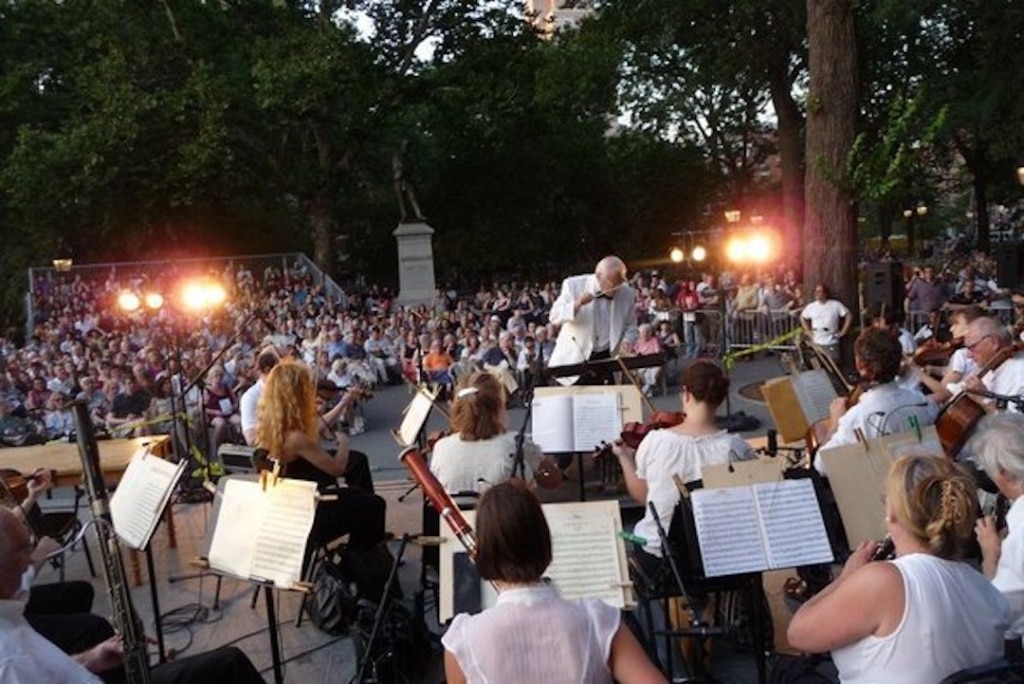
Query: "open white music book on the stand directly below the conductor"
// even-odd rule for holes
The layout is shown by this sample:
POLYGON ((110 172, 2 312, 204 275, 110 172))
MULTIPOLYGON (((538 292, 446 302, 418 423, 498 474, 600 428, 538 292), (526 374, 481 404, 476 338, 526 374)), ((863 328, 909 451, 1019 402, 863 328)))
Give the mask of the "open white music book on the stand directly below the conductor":
POLYGON ((601 393, 536 395, 531 438, 546 454, 590 452, 623 431, 621 395, 601 393))

